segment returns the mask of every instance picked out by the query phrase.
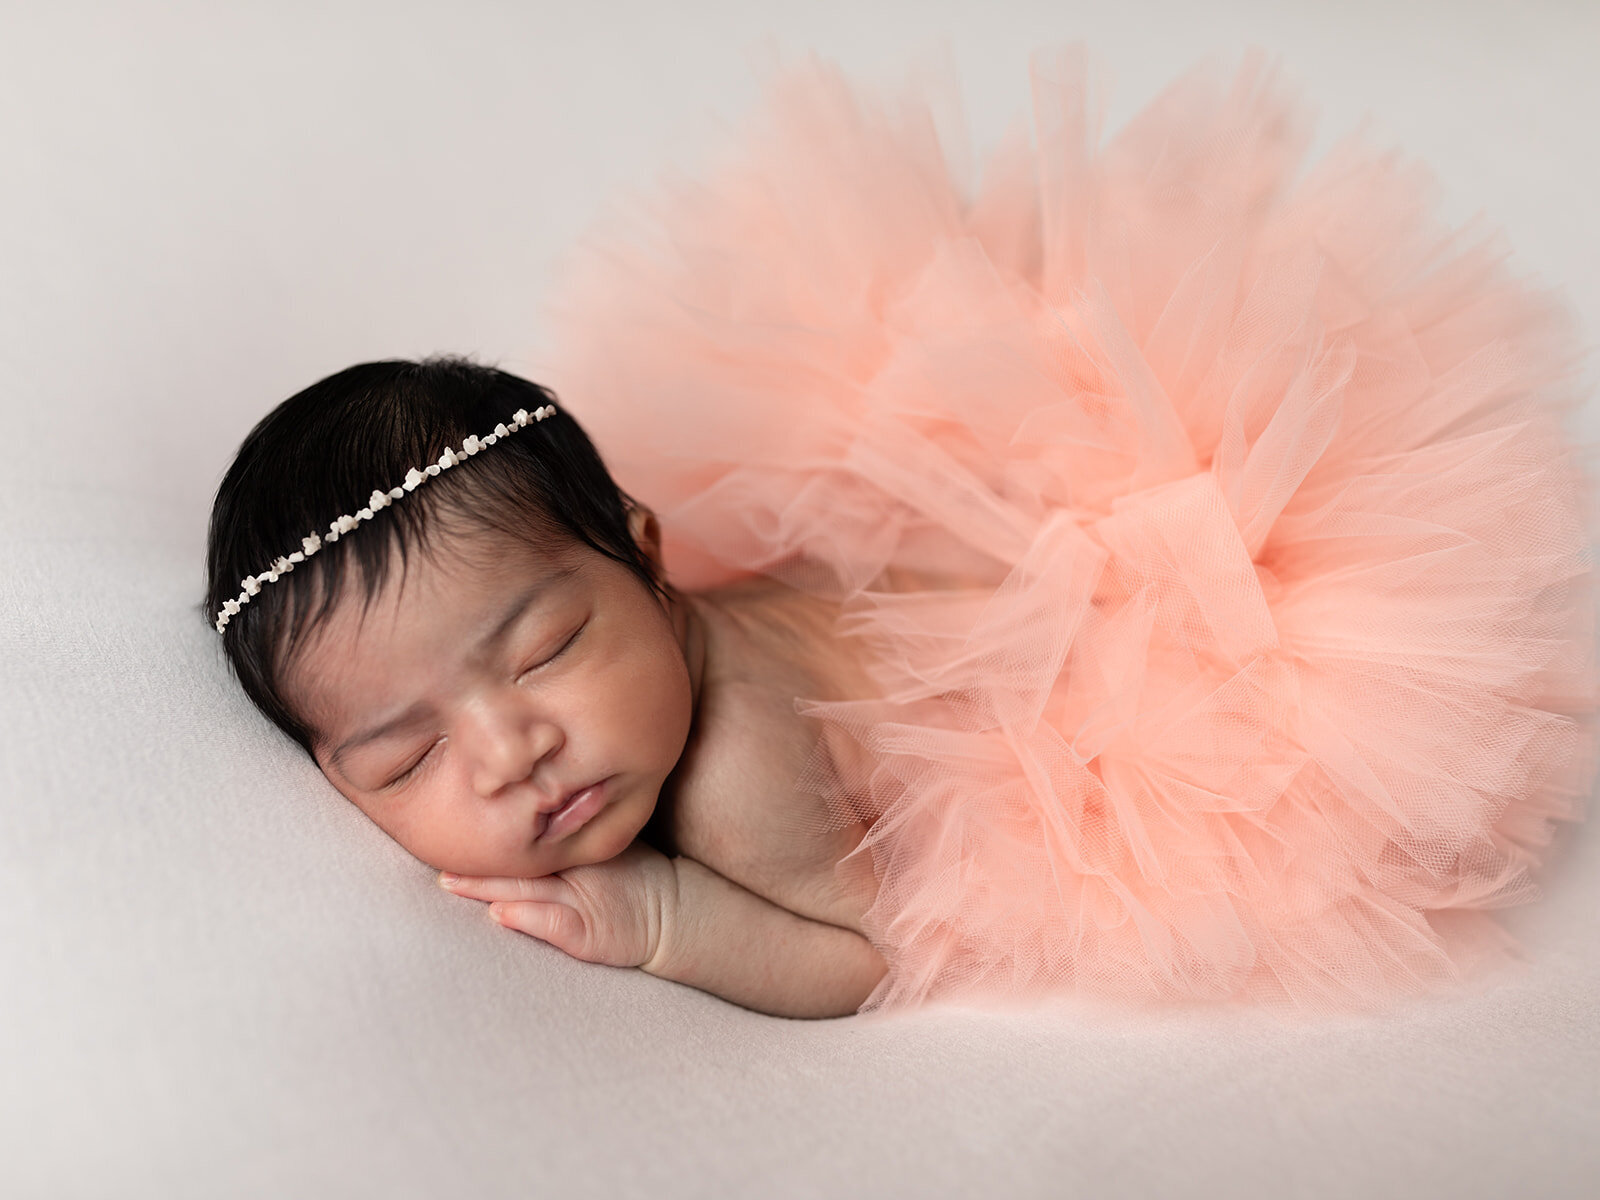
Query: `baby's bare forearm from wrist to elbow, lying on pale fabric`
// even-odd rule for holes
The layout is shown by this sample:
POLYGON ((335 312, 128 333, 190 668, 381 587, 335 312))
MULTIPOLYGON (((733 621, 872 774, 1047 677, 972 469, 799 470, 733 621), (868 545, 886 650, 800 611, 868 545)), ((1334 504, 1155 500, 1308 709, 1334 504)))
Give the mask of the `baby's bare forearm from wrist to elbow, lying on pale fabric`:
POLYGON ((888 971, 854 930, 824 925, 674 858, 677 898, 643 970, 773 1016, 848 1016, 888 971))

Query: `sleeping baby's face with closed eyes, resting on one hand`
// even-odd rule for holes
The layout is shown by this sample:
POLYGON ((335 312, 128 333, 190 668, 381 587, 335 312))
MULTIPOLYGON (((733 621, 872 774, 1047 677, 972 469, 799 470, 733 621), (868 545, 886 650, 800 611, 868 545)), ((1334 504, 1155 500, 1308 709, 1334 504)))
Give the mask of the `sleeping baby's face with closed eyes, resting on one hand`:
POLYGON ((438 541, 365 619, 346 592, 290 664, 318 765, 440 870, 533 877, 619 854, 688 741, 683 622, 586 546, 550 558, 490 533, 438 541), (544 832, 600 781, 598 813, 544 832))

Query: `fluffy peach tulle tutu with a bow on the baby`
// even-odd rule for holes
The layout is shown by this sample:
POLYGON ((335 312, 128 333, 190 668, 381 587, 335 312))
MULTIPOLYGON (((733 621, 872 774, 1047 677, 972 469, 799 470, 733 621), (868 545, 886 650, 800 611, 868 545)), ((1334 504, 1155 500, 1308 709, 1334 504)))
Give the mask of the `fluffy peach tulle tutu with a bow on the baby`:
POLYGON ((1461 984, 1595 776, 1574 320, 1414 162, 1299 178, 1261 51, 1104 146, 1082 46, 1030 80, 968 187, 925 99, 786 66, 574 250, 539 378, 674 582, 875 650, 882 701, 797 701, 864 750, 811 779, 872 818, 861 1011, 1461 984))

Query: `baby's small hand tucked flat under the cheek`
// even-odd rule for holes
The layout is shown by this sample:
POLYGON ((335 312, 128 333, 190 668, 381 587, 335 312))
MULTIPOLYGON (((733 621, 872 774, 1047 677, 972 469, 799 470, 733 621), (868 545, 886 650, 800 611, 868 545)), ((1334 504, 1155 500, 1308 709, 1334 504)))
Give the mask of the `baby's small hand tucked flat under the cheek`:
POLYGON ((605 862, 554 875, 445 878, 440 885, 458 896, 493 901, 490 914, 501 925, 608 966, 643 966, 656 957, 678 894, 672 859, 638 840, 605 862))

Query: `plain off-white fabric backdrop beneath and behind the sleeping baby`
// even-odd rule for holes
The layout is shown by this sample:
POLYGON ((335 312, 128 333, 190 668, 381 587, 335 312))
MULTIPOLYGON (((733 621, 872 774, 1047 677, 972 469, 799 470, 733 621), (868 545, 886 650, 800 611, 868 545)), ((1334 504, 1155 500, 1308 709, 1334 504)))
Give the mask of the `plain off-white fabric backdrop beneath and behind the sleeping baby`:
POLYGON ((195 610, 256 418, 366 358, 518 370, 595 206, 691 168, 771 54, 947 54, 982 141, 1080 37, 1114 126, 1282 53, 1310 157, 1368 115, 1600 341, 1587 0, 0 6, 0 1194, 1600 1190, 1589 827, 1502 917, 1523 968, 1382 1019, 782 1021, 432 886, 195 610))

